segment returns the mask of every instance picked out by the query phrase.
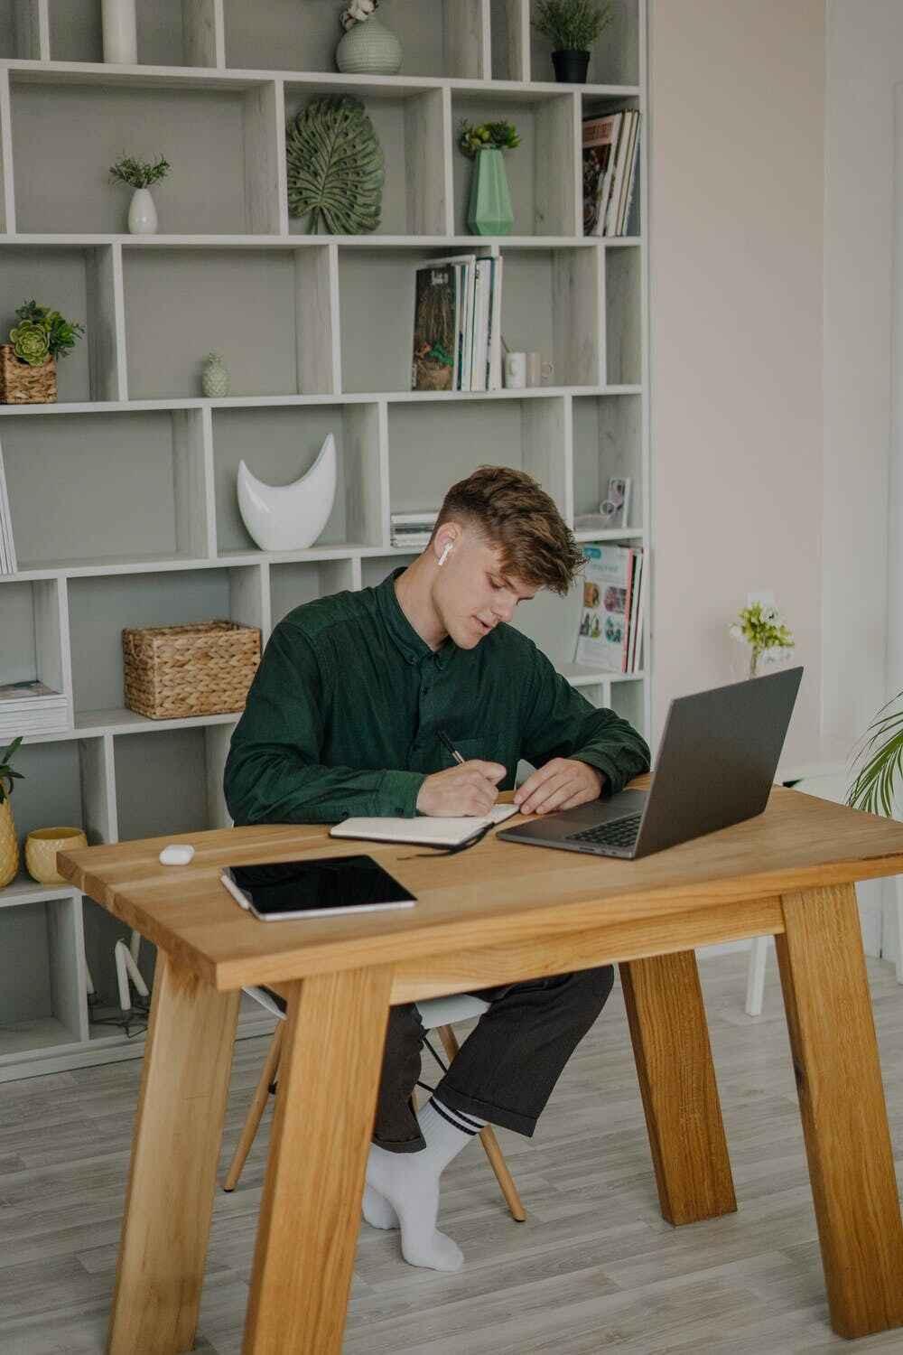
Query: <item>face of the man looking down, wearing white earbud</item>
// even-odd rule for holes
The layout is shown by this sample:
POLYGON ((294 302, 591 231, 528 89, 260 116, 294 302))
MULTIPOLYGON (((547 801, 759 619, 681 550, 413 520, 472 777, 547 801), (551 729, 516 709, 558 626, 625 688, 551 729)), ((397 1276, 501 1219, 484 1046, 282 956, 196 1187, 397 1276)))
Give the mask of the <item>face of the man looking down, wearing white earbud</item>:
POLYGON ((520 602, 539 588, 512 579, 502 568, 502 553, 487 545, 471 527, 447 524, 429 547, 440 558, 452 549, 433 583, 433 606, 459 649, 474 649, 500 621, 510 621, 520 602))

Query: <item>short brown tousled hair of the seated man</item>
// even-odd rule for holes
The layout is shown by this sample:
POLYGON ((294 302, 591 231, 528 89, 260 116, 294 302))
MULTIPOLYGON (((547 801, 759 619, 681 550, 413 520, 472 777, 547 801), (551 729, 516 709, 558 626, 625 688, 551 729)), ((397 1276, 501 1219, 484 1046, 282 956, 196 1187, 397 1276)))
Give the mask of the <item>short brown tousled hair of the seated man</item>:
POLYGON ((539 588, 566 593, 583 565, 555 500, 523 470, 481 466, 459 480, 445 495, 433 537, 447 522, 475 528, 501 549, 506 575, 539 588))

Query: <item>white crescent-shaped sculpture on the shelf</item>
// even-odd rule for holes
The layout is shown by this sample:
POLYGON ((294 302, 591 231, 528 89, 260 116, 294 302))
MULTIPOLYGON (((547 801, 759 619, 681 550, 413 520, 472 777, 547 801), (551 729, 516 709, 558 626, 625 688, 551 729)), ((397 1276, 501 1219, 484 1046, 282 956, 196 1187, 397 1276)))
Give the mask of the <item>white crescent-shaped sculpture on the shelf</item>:
POLYGON ((332 434, 310 470, 291 485, 265 485, 238 462, 238 508, 261 550, 306 550, 329 522, 336 499, 336 439, 332 434))

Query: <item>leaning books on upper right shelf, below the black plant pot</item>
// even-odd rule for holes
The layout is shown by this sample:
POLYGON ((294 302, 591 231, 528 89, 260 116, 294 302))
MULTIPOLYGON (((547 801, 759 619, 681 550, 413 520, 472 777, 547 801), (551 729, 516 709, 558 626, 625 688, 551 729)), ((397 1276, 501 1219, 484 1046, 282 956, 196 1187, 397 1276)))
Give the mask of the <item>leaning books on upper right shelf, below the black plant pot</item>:
POLYGON ((583 234, 623 236, 639 163, 639 112, 583 119, 583 234))

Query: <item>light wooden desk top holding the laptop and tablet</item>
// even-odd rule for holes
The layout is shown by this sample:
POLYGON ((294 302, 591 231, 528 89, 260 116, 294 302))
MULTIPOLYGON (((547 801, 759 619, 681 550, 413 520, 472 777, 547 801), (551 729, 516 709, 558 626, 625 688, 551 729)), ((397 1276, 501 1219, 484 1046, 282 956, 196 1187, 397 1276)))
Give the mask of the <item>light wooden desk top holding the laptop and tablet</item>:
MULTIPOLYGON (((648 776, 634 783, 642 789, 648 776)), ((509 820, 516 822, 517 820, 509 820)), ((778 896, 903 874, 903 824, 774 787, 764 814, 642 860, 497 841, 454 856, 340 840, 324 825, 261 824, 61 852, 60 870, 116 917, 215 988, 393 963, 462 947, 666 919, 688 905, 778 896), (190 866, 161 866, 187 841, 190 866), (219 882, 226 864, 368 852, 416 897, 413 908, 261 923, 219 882)))

